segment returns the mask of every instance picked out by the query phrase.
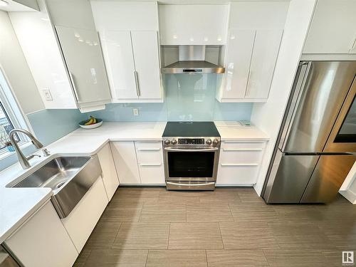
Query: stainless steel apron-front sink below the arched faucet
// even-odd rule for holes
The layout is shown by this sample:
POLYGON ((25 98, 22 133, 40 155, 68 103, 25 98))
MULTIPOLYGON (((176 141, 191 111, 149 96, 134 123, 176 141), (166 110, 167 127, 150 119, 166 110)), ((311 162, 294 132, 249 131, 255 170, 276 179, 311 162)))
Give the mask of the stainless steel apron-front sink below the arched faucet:
POLYGON ((63 219, 101 174, 97 155, 58 156, 42 162, 21 181, 15 180, 6 187, 50 187, 53 191, 53 206, 63 219))

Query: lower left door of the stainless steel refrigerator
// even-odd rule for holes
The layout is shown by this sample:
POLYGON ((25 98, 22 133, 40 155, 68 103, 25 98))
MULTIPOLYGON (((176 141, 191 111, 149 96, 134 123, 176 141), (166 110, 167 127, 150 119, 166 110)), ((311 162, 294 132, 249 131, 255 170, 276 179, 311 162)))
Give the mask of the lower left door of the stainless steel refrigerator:
POLYGON ((318 155, 285 155, 277 151, 263 194, 267 203, 299 203, 318 155))

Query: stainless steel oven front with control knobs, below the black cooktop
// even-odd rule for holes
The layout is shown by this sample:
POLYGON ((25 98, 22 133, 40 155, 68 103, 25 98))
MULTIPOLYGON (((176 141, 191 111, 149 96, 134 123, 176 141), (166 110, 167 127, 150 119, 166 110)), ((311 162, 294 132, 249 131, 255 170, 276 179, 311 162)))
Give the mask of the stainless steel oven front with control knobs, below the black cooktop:
POLYGON ((214 190, 219 162, 219 137, 164 139, 167 189, 214 190))

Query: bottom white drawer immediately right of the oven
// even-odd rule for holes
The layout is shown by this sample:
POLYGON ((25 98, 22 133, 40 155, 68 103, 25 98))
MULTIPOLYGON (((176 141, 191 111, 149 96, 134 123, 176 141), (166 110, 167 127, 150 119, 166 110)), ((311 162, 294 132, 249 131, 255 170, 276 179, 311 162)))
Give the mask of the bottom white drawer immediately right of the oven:
POLYGON ((219 164, 216 184, 251 185, 256 183, 258 164, 219 164))

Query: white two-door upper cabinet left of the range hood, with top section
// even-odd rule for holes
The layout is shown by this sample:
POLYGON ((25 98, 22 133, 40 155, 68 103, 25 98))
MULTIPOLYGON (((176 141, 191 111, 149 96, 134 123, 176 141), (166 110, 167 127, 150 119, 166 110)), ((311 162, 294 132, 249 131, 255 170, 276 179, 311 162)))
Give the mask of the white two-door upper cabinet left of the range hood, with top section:
POLYGON ((162 102, 157 3, 91 1, 112 102, 162 102))

